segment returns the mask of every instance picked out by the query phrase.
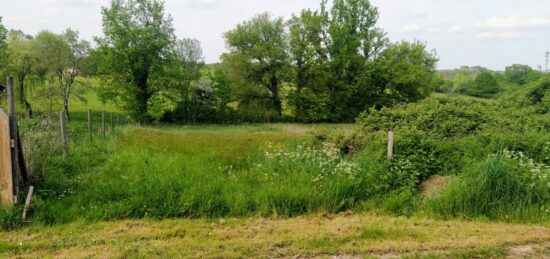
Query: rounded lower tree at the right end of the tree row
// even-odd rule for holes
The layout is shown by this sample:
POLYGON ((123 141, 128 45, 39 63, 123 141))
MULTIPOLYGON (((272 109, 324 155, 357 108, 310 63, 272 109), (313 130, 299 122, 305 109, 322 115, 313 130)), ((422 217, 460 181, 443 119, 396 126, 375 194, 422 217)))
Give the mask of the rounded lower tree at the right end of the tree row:
POLYGON ((422 42, 390 44, 376 61, 372 84, 381 86, 374 105, 421 100, 431 93, 437 58, 422 42))

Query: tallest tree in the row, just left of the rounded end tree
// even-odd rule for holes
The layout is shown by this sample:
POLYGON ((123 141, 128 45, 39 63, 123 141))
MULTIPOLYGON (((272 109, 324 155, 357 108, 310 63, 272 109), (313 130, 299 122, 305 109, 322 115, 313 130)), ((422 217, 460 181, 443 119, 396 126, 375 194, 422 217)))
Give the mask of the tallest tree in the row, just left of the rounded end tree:
MULTIPOLYGON (((323 1, 322 10, 326 9, 323 1)), ((368 0, 335 0, 329 11, 325 45, 328 46, 333 121, 352 121, 380 94, 369 83, 372 63, 387 45, 386 34, 376 26, 378 9, 368 0)))

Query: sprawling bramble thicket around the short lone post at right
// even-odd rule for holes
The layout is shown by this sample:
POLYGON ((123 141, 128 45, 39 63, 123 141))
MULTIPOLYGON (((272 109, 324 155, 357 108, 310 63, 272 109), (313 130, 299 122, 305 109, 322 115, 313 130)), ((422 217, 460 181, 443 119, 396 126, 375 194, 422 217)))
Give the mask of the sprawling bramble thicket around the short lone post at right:
MULTIPOLYGON (((395 158, 387 165, 387 175, 380 176, 389 191, 414 192, 431 175, 459 174, 469 163, 503 149, 548 162, 550 120, 532 106, 518 109, 505 102, 436 96, 392 109, 372 109, 358 122, 367 136, 396 132, 395 158)), ((371 149, 383 150, 383 144, 371 149)))

